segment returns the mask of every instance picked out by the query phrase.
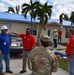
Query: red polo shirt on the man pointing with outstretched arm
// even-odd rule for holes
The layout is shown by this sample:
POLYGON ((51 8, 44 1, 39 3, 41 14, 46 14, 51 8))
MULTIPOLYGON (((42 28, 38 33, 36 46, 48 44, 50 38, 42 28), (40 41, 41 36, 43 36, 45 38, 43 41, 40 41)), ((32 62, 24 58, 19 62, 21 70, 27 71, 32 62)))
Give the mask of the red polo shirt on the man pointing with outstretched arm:
POLYGON ((24 50, 31 50, 34 45, 36 45, 36 40, 33 35, 27 36, 26 34, 20 34, 23 42, 24 50))

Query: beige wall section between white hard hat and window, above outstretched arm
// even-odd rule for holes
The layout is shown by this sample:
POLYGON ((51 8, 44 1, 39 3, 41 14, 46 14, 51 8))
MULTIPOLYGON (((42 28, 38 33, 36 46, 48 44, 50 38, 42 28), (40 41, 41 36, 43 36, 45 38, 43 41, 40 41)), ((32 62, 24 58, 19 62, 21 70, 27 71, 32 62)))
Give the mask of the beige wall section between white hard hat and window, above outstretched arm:
POLYGON ((19 33, 25 33, 26 31, 26 24, 25 23, 21 23, 21 22, 7 22, 7 21, 0 21, 0 23, 4 23, 5 24, 10 24, 11 25, 11 30, 14 30, 16 32, 19 33))

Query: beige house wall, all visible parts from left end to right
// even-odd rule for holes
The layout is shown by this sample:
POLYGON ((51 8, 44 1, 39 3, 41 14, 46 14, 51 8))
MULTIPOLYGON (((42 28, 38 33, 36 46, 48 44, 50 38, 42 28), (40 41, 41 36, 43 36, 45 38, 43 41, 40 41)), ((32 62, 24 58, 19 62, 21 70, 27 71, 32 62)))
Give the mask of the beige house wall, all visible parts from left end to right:
MULTIPOLYGON (((27 25, 28 25, 27 23, 22 23, 22 22, 9 22, 9 21, 0 21, 0 23, 9 23, 9 24, 11 24, 11 29, 14 30, 14 31, 16 31, 16 32, 19 32, 19 33, 25 33, 26 28, 27 28, 27 25)), ((55 29, 58 30, 59 27, 60 27, 59 25, 48 24, 46 26, 46 29, 43 29, 42 30, 42 33, 41 34, 48 35, 47 30, 50 29, 50 36, 49 37, 50 37, 51 42, 53 42, 52 33, 53 33, 53 31, 55 29)), ((37 24, 37 31, 38 31, 38 24, 37 24)), ((66 27, 63 28, 62 43, 66 43, 68 41, 68 38, 65 37, 65 34, 66 34, 66 27)), ((35 38, 37 38, 37 36, 35 36, 35 38)))

